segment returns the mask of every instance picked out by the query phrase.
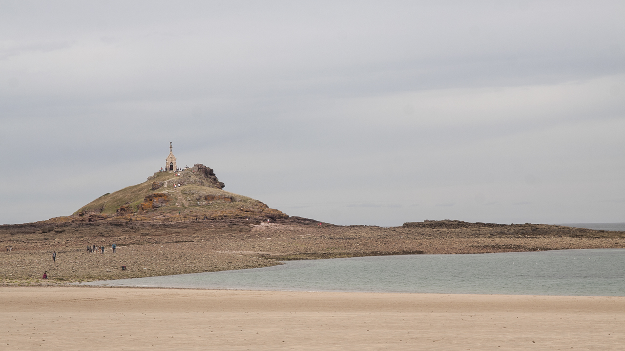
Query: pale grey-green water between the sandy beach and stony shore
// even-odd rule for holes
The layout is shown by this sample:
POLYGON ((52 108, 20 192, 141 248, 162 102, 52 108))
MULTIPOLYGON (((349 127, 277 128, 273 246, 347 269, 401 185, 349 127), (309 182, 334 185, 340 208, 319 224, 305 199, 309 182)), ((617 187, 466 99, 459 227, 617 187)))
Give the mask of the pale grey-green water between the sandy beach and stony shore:
POLYGON ((290 261, 88 285, 201 289, 625 296, 625 249, 290 261))

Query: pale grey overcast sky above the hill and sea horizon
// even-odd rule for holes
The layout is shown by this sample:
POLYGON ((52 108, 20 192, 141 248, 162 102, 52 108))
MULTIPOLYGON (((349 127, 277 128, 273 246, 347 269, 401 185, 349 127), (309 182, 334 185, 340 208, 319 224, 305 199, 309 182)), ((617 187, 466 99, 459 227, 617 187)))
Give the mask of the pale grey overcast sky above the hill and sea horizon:
POLYGON ((335 224, 625 222, 623 1, 2 1, 0 224, 179 166, 335 224))

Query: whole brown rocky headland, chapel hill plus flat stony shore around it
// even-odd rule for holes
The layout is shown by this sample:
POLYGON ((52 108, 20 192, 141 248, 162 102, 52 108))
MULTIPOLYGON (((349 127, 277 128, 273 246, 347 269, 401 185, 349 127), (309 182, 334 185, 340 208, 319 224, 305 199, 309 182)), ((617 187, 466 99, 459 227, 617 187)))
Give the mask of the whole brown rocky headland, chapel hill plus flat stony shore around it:
POLYGON ((625 248, 625 232, 560 225, 461 220, 333 225, 289 217, 223 189, 212 169, 196 164, 157 172, 66 217, 0 225, 0 284, 212 272, 298 259, 625 248), (104 254, 88 252, 88 246, 104 246, 104 254), (42 280, 43 272, 50 279, 42 280))

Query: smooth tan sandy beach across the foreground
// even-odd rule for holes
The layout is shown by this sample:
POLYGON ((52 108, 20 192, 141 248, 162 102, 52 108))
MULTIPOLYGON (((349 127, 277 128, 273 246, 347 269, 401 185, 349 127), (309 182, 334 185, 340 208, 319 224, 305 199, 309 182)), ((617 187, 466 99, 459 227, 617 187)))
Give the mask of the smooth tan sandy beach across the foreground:
POLYGON ((617 350, 625 297, 0 287, 2 350, 617 350))

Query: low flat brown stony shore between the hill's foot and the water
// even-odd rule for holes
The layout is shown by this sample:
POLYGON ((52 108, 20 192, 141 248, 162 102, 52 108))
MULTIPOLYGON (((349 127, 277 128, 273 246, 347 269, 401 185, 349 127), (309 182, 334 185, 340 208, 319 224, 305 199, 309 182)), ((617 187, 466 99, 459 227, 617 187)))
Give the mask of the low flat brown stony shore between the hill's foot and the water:
POLYGON ((459 220, 384 228, 320 224, 300 217, 268 223, 51 219, 0 225, 0 248, 0 284, 59 285, 267 267, 282 260, 625 248, 625 232, 459 220), (115 254, 112 244, 117 245, 115 254), (89 253, 88 245, 103 245, 104 254, 89 253), (44 272, 49 279, 41 279, 44 272))

